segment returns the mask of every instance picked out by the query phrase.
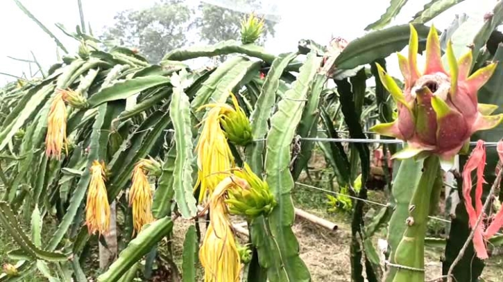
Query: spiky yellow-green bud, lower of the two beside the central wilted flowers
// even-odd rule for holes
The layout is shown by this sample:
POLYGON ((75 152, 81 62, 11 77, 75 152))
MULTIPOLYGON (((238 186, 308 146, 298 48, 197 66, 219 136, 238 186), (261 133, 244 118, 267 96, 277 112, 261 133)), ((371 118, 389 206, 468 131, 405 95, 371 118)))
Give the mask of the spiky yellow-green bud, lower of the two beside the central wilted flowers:
POLYGON ((229 199, 225 202, 229 204, 230 212, 251 218, 271 213, 277 202, 267 182, 255 175, 246 163, 244 169, 238 169, 234 174, 235 177, 232 179, 244 179, 244 181, 236 180, 235 186, 228 191, 229 199))

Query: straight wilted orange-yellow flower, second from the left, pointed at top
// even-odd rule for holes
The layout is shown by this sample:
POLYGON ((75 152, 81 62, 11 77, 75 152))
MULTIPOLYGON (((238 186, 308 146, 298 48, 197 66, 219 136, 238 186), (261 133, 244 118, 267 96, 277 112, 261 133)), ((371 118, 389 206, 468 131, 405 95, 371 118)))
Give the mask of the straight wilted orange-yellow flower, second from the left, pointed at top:
POLYGON ((108 204, 107 188, 105 187, 105 164, 93 161, 91 180, 87 191, 85 224, 89 234, 96 231, 107 234, 110 229, 110 205, 108 204))

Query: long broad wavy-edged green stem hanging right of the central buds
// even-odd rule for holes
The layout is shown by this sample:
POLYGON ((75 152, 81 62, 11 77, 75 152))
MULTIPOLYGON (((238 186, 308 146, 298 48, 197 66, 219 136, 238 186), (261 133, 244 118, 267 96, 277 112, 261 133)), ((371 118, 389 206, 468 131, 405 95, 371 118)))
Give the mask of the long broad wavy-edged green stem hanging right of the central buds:
POLYGON ((271 130, 267 134, 266 182, 278 202, 268 218, 268 227, 271 229, 268 240, 273 240, 277 247, 263 249, 263 245, 257 245, 257 249, 259 259, 261 256, 273 256, 273 265, 262 265, 268 269, 268 279, 271 281, 311 280, 309 270, 298 255, 298 241, 291 230, 295 213, 290 195, 294 183, 289 166, 291 141, 302 116, 309 86, 321 60, 315 53, 307 55, 296 82, 293 82, 292 88, 285 92, 278 103, 278 112, 273 114, 271 130), (270 254, 266 254, 267 252, 270 254))

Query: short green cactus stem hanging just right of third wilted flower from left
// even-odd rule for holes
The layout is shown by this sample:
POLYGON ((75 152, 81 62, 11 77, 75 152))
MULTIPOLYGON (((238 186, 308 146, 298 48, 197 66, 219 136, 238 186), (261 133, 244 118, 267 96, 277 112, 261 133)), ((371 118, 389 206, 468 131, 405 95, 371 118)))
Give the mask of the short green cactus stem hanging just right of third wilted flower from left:
POLYGON ((154 218, 164 218, 171 213, 171 200, 175 191, 173 189, 173 169, 175 167, 176 147, 173 146, 169 149, 164 165, 162 166, 162 173, 159 177, 159 184, 155 189, 152 213, 154 218))

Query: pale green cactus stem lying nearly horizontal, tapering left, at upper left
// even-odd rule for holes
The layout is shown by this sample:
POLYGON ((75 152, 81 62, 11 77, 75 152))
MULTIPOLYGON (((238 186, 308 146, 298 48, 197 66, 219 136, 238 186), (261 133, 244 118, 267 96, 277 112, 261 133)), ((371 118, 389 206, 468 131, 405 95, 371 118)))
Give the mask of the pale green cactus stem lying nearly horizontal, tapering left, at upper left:
POLYGON ((112 100, 126 99, 151 87, 167 85, 169 79, 164 76, 141 76, 122 80, 108 87, 103 87, 98 93, 87 100, 89 107, 96 107, 112 100))

